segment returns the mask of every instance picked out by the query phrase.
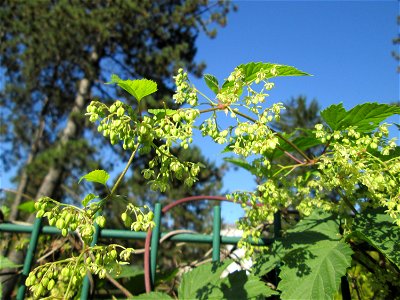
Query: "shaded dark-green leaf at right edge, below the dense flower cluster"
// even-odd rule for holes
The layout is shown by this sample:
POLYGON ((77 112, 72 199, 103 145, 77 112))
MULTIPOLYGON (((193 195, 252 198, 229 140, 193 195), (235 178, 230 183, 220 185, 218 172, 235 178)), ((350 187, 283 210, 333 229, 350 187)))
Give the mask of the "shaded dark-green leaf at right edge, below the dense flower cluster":
POLYGON ((400 228, 393 222, 383 210, 367 210, 355 218, 353 232, 346 238, 357 237, 368 242, 400 268, 400 228))

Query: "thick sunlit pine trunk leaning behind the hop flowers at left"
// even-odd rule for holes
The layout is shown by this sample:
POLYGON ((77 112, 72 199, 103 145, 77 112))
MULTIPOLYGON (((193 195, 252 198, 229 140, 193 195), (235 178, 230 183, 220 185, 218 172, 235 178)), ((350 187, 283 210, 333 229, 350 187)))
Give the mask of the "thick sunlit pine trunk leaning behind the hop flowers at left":
MULTIPOLYGON (((91 82, 87 78, 83 78, 78 83, 78 93, 75 96, 74 106, 72 107, 71 113, 68 117, 67 125, 63 129, 60 135, 60 147, 63 147, 66 143, 68 143, 71 139, 77 137, 78 134, 78 126, 79 122, 77 119, 77 115, 81 114, 86 105, 86 99, 89 96, 89 92, 91 89, 91 82)), ((52 197, 55 189, 58 187, 60 182, 62 173, 64 170, 64 166, 53 165, 49 168, 46 176, 44 177, 42 184, 39 187, 39 190, 36 194, 36 199, 39 199, 43 196, 52 197)), ((35 216, 31 215, 28 219, 28 222, 33 222, 35 216)), ((16 264, 22 264, 24 253, 23 251, 17 251, 12 249, 8 255, 8 258, 15 262, 16 264)), ((12 270, 4 270, 7 271, 12 270)), ((3 296, 2 299, 11 299, 11 294, 14 290, 15 284, 17 283, 18 276, 16 275, 6 275, 1 276, 2 285, 3 285, 3 296)))

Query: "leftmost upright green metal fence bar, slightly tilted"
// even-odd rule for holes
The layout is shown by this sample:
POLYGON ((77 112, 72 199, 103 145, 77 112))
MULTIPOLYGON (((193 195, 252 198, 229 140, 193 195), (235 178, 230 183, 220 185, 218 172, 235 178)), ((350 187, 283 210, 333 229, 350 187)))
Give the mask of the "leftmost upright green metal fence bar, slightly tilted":
POLYGON ((29 242, 28 250, 26 252, 24 268, 22 270, 22 276, 21 276, 21 285, 18 288, 17 292, 17 300, 23 300, 25 296, 25 291, 26 291, 25 279, 28 277, 29 272, 31 271, 32 261, 33 257, 35 256, 41 225, 42 225, 42 218, 36 218, 32 226, 33 229, 32 229, 31 240, 29 242))

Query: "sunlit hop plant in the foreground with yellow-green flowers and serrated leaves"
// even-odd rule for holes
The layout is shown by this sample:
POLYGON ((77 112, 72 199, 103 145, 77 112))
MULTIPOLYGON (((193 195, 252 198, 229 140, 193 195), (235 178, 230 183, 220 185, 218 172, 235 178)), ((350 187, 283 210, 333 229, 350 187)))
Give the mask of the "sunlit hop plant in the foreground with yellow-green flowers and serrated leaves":
MULTIPOLYGON (((270 79, 290 75, 307 74, 290 66, 243 64, 221 87, 216 78, 207 75, 208 87, 217 92, 215 98, 208 98, 179 70, 173 99, 185 104, 183 108, 144 112, 120 100, 110 105, 92 101, 86 113, 89 120, 98 124, 98 131, 111 144, 122 144, 131 156, 113 187, 106 186, 107 193, 99 196, 99 201, 95 194, 89 194, 83 199, 83 209, 47 197, 35 204, 37 215, 48 217, 63 235, 79 228, 82 250, 78 256, 32 271, 27 285, 34 297, 45 296, 48 290, 73 297, 79 294, 79 283, 87 271, 100 278, 119 271, 118 266, 125 264, 134 250, 118 244, 92 245, 94 225, 104 226, 107 221, 101 211, 106 203, 119 201, 116 190, 129 166, 150 151, 155 157, 141 169, 150 189, 165 192, 175 180, 192 186, 202 164, 181 160, 173 149, 176 145, 188 148, 195 128, 214 142, 227 145, 225 151, 236 155, 230 161, 260 179, 255 191, 228 195, 245 209, 245 217, 238 221, 243 230, 238 246, 253 256, 256 264, 249 275, 240 271, 227 278, 221 278, 221 273, 229 261, 198 267, 183 275, 179 297, 220 299, 234 293, 243 299, 278 294, 282 299, 331 299, 340 290, 349 290, 347 278, 354 283, 357 295, 360 290, 373 296, 398 294, 399 249, 392 239, 398 238, 400 226, 400 157, 395 139, 388 138, 389 125, 381 122, 400 111, 397 106, 377 103, 364 103, 348 111, 342 104, 332 105, 321 112, 324 124, 315 124, 314 136, 278 132, 270 123, 280 119, 283 105, 265 107, 263 103, 266 92, 273 87, 270 79), (210 108, 198 108, 198 95, 208 101, 210 108), (196 126, 202 114, 209 117, 196 126), (221 122, 222 118, 226 122, 221 122), (315 146, 322 150, 310 157, 306 150, 315 146), (279 155, 274 155, 276 151, 279 155), (290 161, 282 165, 279 156, 290 161), (271 234, 278 211, 285 215, 293 208, 298 210, 300 222, 293 224, 286 219, 287 230, 275 236, 270 248, 253 245, 271 234), (366 280, 356 275, 359 266, 376 277, 375 283, 370 277, 366 280), (62 274, 62 270, 67 271, 62 274), (271 273, 278 276, 272 278, 271 273), (56 284, 59 287, 53 289, 56 284)), ((143 91, 148 82, 129 84, 143 91)), ((131 88, 126 90, 137 95, 131 88)), ((97 170, 82 178, 106 185, 108 176, 97 170)), ((122 221, 135 231, 151 228, 152 218, 147 207, 132 204, 121 214, 122 221)))

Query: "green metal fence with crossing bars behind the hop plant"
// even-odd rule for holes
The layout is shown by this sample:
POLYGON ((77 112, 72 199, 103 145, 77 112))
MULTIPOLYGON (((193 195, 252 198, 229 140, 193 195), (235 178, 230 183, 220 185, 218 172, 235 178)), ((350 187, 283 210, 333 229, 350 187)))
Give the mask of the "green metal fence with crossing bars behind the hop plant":
MULTIPOLYGON (((169 232, 161 232, 161 218, 162 216, 173 207, 198 200, 215 200, 215 201, 229 201, 224 197, 218 196, 195 196, 177 200, 164 208, 160 203, 155 204, 154 208, 154 222, 155 227, 149 232, 134 232, 130 230, 118 230, 118 229, 100 229, 96 226, 96 231, 93 237, 92 246, 94 246, 99 237, 102 238, 123 238, 123 239, 136 239, 145 240, 145 255, 144 255, 144 270, 145 270, 145 287, 146 291, 152 290, 155 282, 155 274, 157 268, 157 251, 160 239, 169 232)), ((280 214, 277 213, 274 216, 274 237, 279 235, 281 230, 281 218, 280 214)), ((214 206, 213 211, 213 230, 211 235, 206 234, 188 234, 180 233, 169 237, 170 240, 175 242, 186 242, 186 243, 206 243, 212 245, 212 260, 220 260, 221 244, 236 244, 239 241, 239 237, 232 236, 221 236, 221 206, 214 206)), ((32 264, 34 262, 34 256, 38 239, 41 234, 61 234, 61 231, 56 227, 43 226, 42 218, 36 218, 33 225, 19 225, 11 223, 0 224, 0 232, 12 232, 12 233, 30 233, 31 239, 25 256, 22 274, 20 275, 19 288, 17 292, 17 300, 22 300, 25 297, 26 286, 25 279, 31 271, 32 264)), ((255 245, 268 245, 273 242, 273 239, 260 239, 254 241, 255 245)), ((86 300, 89 296, 90 282, 86 276, 83 281, 81 299, 86 300)))

